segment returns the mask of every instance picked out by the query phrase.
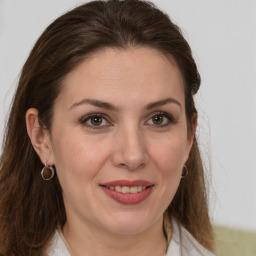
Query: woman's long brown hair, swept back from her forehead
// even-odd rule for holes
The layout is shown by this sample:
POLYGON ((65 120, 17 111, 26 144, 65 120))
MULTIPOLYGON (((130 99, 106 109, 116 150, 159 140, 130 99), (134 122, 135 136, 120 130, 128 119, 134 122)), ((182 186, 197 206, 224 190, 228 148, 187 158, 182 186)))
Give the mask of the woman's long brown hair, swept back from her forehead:
MULTIPOLYGON (((64 14, 44 31, 23 66, 4 137, 0 160, 0 251, 39 255, 56 227, 66 221, 57 176, 45 182, 42 163, 26 131, 25 114, 39 111, 40 125, 51 130, 52 109, 62 82, 84 58, 105 47, 151 47, 171 54, 185 81, 188 129, 196 113, 193 95, 200 76, 180 29, 151 2, 93 1, 64 14)), ((204 172, 197 141, 182 180, 167 209, 204 247, 214 250, 204 172)))

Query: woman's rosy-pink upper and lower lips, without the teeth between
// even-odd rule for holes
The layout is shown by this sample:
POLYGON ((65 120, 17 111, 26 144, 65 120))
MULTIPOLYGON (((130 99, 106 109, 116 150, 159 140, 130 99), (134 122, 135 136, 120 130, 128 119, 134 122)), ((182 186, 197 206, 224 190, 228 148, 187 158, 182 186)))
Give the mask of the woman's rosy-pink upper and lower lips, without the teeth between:
POLYGON ((142 201, 144 201, 153 191, 154 184, 145 180, 134 180, 134 181, 116 180, 116 181, 111 181, 111 182, 101 184, 100 187, 106 193, 106 195, 108 195, 110 198, 112 198, 116 202, 121 204, 126 204, 126 205, 133 205, 133 204, 139 204, 142 201), (121 192, 117 192, 115 190, 108 189, 107 187, 110 187, 110 186, 127 186, 127 187, 146 186, 147 188, 136 194, 129 194, 129 193, 124 194, 121 192))

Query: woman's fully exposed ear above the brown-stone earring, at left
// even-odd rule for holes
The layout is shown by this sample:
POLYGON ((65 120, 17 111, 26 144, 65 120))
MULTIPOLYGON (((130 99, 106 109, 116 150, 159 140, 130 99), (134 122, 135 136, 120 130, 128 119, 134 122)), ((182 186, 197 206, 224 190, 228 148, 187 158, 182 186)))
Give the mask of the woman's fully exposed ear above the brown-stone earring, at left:
POLYGON ((26 112, 27 133, 32 146, 43 164, 54 165, 49 131, 39 125, 38 110, 30 108, 26 112))

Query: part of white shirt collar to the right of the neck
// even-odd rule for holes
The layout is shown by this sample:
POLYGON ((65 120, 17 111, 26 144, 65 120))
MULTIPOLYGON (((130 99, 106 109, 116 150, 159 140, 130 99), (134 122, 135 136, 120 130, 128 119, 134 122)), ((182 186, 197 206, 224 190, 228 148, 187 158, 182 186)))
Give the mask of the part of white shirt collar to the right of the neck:
POLYGON ((181 225, 172 220, 173 235, 166 256, 214 256, 181 225))

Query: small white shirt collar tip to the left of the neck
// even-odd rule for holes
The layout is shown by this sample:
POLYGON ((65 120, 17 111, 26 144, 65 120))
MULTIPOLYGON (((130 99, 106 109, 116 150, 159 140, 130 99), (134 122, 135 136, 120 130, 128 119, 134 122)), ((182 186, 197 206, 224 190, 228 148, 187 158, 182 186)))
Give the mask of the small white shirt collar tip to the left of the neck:
POLYGON ((62 238, 61 232, 55 231, 53 239, 50 243, 49 248, 46 251, 47 256, 71 256, 67 245, 62 238))

